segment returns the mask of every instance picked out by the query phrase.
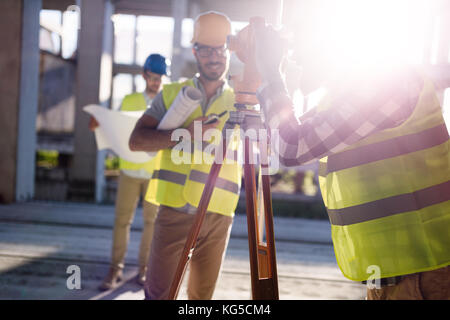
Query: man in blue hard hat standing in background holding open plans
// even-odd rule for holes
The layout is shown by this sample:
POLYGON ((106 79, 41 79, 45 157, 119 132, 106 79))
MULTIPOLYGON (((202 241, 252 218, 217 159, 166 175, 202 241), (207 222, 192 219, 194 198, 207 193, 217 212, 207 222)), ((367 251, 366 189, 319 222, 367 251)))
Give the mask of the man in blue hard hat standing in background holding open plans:
MULTIPOLYGON (((132 93, 122 101, 122 111, 141 111, 147 109, 161 88, 162 77, 166 75, 166 59, 159 54, 151 54, 145 61, 142 76, 146 82, 145 91, 132 93)), ((95 118, 91 117, 90 128, 94 130, 98 126, 95 118)), ((146 163, 133 163, 119 158, 119 184, 116 196, 116 212, 113 231, 113 244, 111 252, 110 270, 99 286, 100 290, 114 288, 123 278, 125 254, 130 237, 130 226, 133 222, 134 212, 139 198, 144 198, 147 192, 149 179, 153 173, 154 159, 146 163)), ((141 285, 145 282, 146 265, 150 254, 150 246, 153 237, 153 227, 158 206, 147 201, 143 206, 143 230, 139 247, 139 272, 137 282, 141 285)))

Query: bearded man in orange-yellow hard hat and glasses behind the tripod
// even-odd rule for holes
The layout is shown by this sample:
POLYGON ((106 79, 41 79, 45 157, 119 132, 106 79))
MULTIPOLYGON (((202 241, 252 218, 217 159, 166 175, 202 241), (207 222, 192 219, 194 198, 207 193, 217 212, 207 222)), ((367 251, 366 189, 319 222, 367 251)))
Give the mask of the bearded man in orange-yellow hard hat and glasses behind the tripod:
MULTIPOLYGON (((182 127, 187 128, 192 137, 195 123, 202 126, 203 132, 211 128, 222 129, 229 118, 228 113, 216 123, 203 122, 208 115, 235 110, 234 93, 225 78, 230 61, 226 39, 230 33, 230 21, 221 13, 207 12, 196 19, 192 53, 199 75, 182 83, 165 85, 136 124, 130 138, 132 150, 159 151, 146 196, 147 201, 161 204, 144 286, 147 299, 168 298, 211 168, 206 163, 175 164, 171 148, 178 141, 171 140, 173 130, 158 131, 155 128, 172 107, 180 90, 192 86, 202 92, 203 98, 182 127)), ((223 164, 190 260, 189 299, 211 299, 213 295, 239 199, 240 181, 238 163, 230 161, 223 164)))

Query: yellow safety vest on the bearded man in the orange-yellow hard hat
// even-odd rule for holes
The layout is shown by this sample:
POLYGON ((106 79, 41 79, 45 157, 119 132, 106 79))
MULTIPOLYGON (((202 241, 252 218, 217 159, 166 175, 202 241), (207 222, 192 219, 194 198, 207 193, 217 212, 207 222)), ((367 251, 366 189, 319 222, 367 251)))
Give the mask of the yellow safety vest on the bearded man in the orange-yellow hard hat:
MULTIPOLYGON (((194 83, 192 80, 188 80, 184 83, 172 83, 163 87, 162 95, 167 109, 170 108, 172 102, 184 86, 194 86, 194 83)), ((211 104, 205 115, 220 114, 225 110, 236 110, 234 108, 234 93, 230 88, 226 88, 222 95, 211 104)), ((182 127, 188 127, 194 119, 201 116, 203 116, 203 112, 199 105, 188 119, 186 119, 182 127)), ((221 117, 217 129, 222 130, 228 118, 228 113, 221 117)), ((192 151, 201 152, 204 155, 205 153, 202 151, 206 151, 205 148, 208 145, 211 147, 211 144, 217 145, 218 143, 220 141, 200 143, 202 145, 200 147, 201 150, 196 150, 197 147, 194 147, 192 151)), ((208 211, 233 216, 239 200, 242 170, 238 162, 235 161, 237 159, 235 156, 238 145, 230 143, 229 148, 232 152, 227 152, 227 155, 232 154, 233 156, 231 158, 227 157, 227 161, 224 161, 222 164, 209 202, 208 211), (234 161, 232 161, 233 158, 234 161)), ((194 157, 195 152, 192 152, 190 155, 191 159, 194 157)), ((181 208, 186 204, 198 207, 211 169, 211 164, 204 163, 203 161, 200 164, 175 164, 172 161, 171 153, 172 149, 164 149, 158 152, 155 171, 150 180, 145 199, 151 203, 159 203, 174 208, 181 208)))

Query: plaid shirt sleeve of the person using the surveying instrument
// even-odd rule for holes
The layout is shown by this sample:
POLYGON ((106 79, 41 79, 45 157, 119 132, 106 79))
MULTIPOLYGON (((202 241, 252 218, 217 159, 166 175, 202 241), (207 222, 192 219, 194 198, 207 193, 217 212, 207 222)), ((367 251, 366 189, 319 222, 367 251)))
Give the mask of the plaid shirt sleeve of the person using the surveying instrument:
POLYGON ((278 155, 297 166, 331 154, 404 122, 414 110, 423 79, 412 71, 389 78, 355 79, 329 89, 331 108, 316 107, 299 119, 282 80, 263 85, 258 99, 271 130, 278 130, 278 155))

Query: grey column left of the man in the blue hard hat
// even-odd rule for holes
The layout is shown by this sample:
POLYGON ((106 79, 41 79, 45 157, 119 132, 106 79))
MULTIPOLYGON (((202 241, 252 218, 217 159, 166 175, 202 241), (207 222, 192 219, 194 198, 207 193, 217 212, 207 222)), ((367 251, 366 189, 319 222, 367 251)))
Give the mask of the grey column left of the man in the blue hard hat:
POLYGON ((70 172, 72 190, 95 190, 101 202, 104 186, 104 153, 97 154, 94 134, 89 131, 87 104, 107 106, 111 97, 112 43, 110 0, 82 0, 81 28, 78 42, 77 90, 75 111, 75 154, 70 172))

